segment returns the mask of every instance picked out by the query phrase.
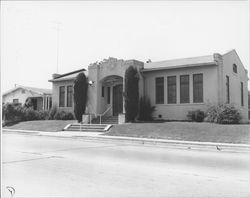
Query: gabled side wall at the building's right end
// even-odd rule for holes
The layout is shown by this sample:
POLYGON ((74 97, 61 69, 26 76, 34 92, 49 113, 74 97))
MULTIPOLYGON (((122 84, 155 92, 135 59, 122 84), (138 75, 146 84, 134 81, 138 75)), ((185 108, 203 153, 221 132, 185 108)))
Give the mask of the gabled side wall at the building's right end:
POLYGON ((223 58, 223 103, 226 103, 226 76, 229 76, 230 103, 234 104, 241 112, 242 122, 248 121, 248 76, 247 71, 233 50, 222 56, 223 58), (233 64, 237 65, 237 73, 233 72, 233 64), (241 106, 241 85, 243 82, 244 106, 241 106))

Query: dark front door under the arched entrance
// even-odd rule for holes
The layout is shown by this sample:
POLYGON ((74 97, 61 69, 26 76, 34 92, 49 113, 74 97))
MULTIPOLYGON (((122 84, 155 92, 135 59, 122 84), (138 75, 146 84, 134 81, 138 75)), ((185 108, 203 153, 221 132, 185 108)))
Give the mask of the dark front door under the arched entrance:
POLYGON ((122 113, 122 85, 116 85, 113 87, 113 116, 117 116, 122 113))

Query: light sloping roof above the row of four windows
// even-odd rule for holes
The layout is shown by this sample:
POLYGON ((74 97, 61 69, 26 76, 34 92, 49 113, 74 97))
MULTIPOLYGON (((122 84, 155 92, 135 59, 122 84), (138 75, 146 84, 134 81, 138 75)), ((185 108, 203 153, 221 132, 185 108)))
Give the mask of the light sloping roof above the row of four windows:
POLYGON ((210 64, 216 64, 213 55, 145 63, 144 70, 170 69, 176 67, 189 67, 210 64))

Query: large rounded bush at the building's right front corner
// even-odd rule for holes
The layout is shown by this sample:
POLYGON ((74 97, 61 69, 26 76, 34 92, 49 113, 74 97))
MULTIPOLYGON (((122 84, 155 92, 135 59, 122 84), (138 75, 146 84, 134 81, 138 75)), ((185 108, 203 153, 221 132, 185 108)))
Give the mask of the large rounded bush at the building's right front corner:
POLYGON ((238 124, 240 112, 231 104, 212 106, 206 113, 206 121, 219 124, 238 124))

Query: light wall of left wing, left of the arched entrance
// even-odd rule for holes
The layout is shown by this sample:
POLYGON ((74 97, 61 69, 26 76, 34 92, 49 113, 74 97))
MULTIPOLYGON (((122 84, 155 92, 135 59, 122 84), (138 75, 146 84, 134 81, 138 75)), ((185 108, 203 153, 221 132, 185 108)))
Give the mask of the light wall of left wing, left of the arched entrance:
POLYGON ((52 85, 52 107, 56 106, 59 110, 74 112, 74 103, 72 107, 67 107, 67 86, 74 85, 74 80, 53 82, 52 85), (65 107, 59 107, 59 87, 65 86, 65 107))

